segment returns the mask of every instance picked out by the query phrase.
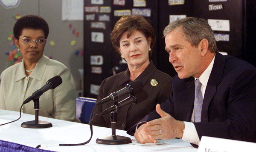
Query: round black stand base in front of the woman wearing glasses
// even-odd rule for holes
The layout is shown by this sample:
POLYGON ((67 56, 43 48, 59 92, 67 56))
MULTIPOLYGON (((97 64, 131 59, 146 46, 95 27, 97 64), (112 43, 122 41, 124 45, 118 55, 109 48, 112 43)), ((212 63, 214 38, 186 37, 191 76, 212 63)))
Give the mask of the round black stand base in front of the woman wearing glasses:
POLYGON ((38 123, 35 120, 26 121, 21 123, 21 127, 23 128, 49 128, 52 127, 52 123, 47 121, 38 120, 38 123))

